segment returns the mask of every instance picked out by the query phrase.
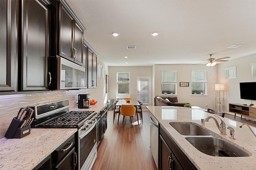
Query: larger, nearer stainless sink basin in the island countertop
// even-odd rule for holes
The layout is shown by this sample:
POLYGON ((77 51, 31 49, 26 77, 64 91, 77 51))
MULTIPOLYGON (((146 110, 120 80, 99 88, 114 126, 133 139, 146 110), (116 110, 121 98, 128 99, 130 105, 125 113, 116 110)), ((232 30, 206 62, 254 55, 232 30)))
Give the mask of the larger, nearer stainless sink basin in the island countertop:
POLYGON ((215 137, 185 137, 200 152, 210 156, 241 157, 252 156, 234 145, 215 137))

